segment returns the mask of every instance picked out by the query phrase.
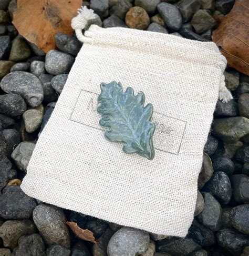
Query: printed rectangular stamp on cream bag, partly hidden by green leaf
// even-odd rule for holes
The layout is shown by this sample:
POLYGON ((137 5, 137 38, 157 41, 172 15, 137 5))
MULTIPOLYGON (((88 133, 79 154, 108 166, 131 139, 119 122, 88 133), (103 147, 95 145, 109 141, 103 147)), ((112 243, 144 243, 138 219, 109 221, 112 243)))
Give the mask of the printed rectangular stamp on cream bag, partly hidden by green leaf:
MULTIPOLYGON (((97 96, 98 93, 80 90, 69 120, 86 125, 93 129, 105 131, 105 129, 99 125, 101 116, 97 113, 97 96), (88 96, 90 96, 89 101, 81 100, 81 98, 85 99, 88 96), (90 114, 87 111, 90 112, 90 114), (93 116, 94 118, 92 118, 93 116)), ((175 117, 164 115, 157 111, 153 112, 151 122, 155 123, 156 125, 153 135, 153 144, 155 150, 179 155, 187 122, 176 119, 175 117), (171 124, 167 125, 167 121, 171 124), (171 150, 170 147, 172 148, 171 150)))

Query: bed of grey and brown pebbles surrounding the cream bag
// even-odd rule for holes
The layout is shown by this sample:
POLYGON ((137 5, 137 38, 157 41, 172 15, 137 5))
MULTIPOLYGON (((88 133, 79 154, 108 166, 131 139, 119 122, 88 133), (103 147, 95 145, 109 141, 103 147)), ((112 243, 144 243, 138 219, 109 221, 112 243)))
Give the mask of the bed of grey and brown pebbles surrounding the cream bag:
MULTIPOLYGON (((213 15, 229 13, 234 0, 91 0, 84 4, 99 15, 91 21, 99 26, 211 41, 217 26, 213 15)), ((0 0, 0 256, 249 255, 249 77, 229 67, 225 71, 234 100, 217 102, 187 237, 163 237, 107 223, 44 204, 20 190, 35 143, 81 43, 74 36, 57 33, 58 50, 45 54, 18 35, 11 23, 15 10, 15 0, 0 0), (91 230, 99 243, 77 239, 65 220, 91 230)))

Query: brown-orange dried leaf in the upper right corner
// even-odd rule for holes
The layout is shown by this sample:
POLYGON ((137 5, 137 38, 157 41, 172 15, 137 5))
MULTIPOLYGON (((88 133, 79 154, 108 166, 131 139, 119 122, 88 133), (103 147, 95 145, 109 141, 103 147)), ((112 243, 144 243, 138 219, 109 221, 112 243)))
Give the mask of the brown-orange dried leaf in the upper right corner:
POLYGON ((236 0, 231 12, 217 19, 220 25, 212 40, 229 66, 249 75, 249 1, 236 0))

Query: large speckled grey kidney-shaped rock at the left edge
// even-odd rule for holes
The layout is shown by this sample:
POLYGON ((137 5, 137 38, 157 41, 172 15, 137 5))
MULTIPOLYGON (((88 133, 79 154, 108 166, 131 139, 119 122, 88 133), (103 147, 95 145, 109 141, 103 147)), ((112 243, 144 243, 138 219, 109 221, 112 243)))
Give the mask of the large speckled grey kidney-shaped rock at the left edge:
POLYGON ((28 72, 9 73, 3 78, 1 85, 4 92, 17 93, 22 96, 29 106, 38 106, 43 101, 42 83, 35 75, 28 72))

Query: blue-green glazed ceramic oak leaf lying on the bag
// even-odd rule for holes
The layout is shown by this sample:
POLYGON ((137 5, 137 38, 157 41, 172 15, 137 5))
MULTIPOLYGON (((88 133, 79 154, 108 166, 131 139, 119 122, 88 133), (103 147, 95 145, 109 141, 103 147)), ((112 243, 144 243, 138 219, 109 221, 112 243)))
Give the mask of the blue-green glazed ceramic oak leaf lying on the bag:
POLYGON ((123 92, 121 83, 115 81, 101 83, 100 88, 100 106, 97 111, 102 115, 99 124, 108 129, 105 132, 107 139, 123 142, 123 151, 126 153, 137 153, 152 160, 155 125, 150 120, 153 106, 143 106, 143 92, 135 96, 131 87, 123 92))

